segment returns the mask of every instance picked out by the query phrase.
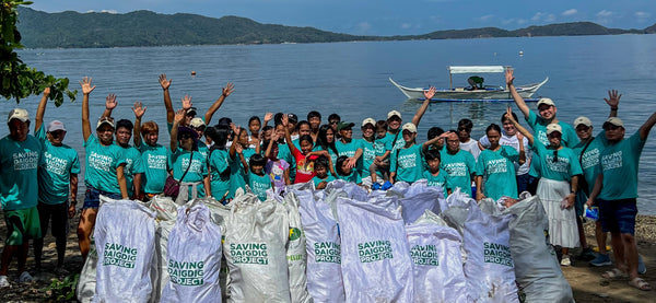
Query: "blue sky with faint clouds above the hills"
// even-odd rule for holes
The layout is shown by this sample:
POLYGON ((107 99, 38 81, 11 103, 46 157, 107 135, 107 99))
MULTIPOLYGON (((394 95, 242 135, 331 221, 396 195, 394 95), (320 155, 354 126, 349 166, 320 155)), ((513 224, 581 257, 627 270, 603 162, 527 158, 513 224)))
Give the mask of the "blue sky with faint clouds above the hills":
POLYGON ((259 23, 311 26, 353 35, 415 35, 477 27, 590 21, 612 28, 656 23, 655 0, 33 0, 45 12, 236 15, 259 23))

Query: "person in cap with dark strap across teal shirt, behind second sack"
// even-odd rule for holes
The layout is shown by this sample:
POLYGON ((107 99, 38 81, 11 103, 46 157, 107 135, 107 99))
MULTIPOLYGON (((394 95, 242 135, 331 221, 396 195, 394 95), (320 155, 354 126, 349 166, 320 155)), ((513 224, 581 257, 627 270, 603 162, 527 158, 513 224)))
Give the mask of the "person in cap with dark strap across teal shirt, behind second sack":
POLYGON ((180 182, 179 195, 176 198, 178 205, 211 193, 208 159, 198 152, 198 132, 179 126, 184 118, 185 109, 179 109, 175 114, 171 131, 173 178, 180 182))

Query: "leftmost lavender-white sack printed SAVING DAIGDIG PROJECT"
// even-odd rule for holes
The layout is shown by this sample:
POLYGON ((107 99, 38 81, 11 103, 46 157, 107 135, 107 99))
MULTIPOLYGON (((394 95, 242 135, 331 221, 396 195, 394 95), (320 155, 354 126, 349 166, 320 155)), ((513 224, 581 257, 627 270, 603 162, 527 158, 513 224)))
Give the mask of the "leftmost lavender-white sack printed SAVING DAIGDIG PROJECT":
POLYGON ((101 206, 96 219, 98 253, 93 302, 149 302, 155 256, 155 213, 130 200, 101 206))

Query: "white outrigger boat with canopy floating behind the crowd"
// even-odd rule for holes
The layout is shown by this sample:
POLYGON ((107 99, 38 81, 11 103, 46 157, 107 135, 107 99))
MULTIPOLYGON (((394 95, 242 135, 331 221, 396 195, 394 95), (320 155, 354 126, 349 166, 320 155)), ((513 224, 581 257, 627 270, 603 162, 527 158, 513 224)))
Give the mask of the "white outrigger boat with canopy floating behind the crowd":
MULTIPOLYGON (((448 80, 449 88, 448 89, 437 89, 435 91, 435 96, 431 100, 433 101, 443 101, 443 102, 469 102, 469 101, 488 101, 488 102, 508 102, 513 101, 513 96, 511 95, 511 91, 507 85, 505 86, 493 86, 493 85, 484 85, 482 89, 478 90, 468 90, 467 88, 454 88, 452 75, 454 73, 504 73, 506 69, 511 67, 504 66, 459 66, 459 67, 448 67, 448 80)), ((531 98, 531 96, 540 89, 544 83, 549 81, 549 77, 544 79, 544 81, 540 83, 532 83, 527 85, 517 85, 515 89, 517 93, 526 102, 537 102, 537 98, 531 98)), ((422 88, 411 89, 402 86, 396 83, 391 78, 389 78, 389 82, 397 86, 408 98, 417 98, 424 100, 424 90, 422 88)))

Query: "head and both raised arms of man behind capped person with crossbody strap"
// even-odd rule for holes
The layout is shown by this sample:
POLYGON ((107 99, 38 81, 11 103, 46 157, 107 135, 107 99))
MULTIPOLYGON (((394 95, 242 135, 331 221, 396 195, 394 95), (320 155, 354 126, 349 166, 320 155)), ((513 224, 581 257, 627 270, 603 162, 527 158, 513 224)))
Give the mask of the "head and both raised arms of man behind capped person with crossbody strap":
MULTIPOLYGON (((175 110, 173 109, 173 103, 171 102, 171 94, 168 92, 172 82, 172 79, 166 79, 165 73, 160 74, 160 85, 164 91, 164 106, 166 107, 166 126, 168 128, 168 133, 171 133, 171 129, 173 128, 173 119, 175 117, 175 110)), ((219 98, 212 104, 212 106, 210 106, 208 112, 202 117, 204 124, 210 124, 212 116, 214 113, 216 113, 216 110, 219 110, 219 107, 221 107, 223 101, 225 101, 225 98, 235 91, 235 85, 233 85, 231 82, 227 82, 225 88, 222 88, 221 91, 222 92, 219 98)), ((197 109, 196 107, 192 107, 190 96, 186 95, 183 97, 183 108, 185 109, 186 114, 185 121, 181 125, 187 126, 197 115, 197 109)))

